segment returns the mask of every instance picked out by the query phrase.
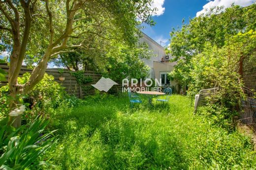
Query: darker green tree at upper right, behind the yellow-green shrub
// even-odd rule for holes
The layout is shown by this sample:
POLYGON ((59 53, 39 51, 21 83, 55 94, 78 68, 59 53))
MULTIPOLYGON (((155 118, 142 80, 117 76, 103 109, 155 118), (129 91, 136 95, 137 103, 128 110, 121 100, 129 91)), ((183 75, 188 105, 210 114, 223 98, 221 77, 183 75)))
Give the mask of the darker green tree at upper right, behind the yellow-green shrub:
MULTIPOLYGON (((232 6, 221 12, 222 8, 212 9, 206 16, 190 20, 190 24, 181 30, 170 33, 170 53, 178 61, 171 77, 182 85, 192 81, 190 72, 193 69, 192 58, 204 51, 206 46, 224 47, 225 42, 239 32, 247 32, 256 28, 256 4, 242 8, 232 6)), ((240 61, 242 62, 241 56, 240 61)))

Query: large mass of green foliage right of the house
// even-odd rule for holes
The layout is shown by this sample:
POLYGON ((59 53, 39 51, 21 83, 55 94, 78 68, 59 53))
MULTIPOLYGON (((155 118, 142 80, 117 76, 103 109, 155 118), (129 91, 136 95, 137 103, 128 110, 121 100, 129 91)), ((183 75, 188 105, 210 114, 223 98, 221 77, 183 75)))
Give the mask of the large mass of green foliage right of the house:
POLYGON ((214 105, 207 114, 221 126, 231 125, 234 110, 244 97, 243 60, 256 59, 255 9, 256 4, 232 6, 221 13, 217 8, 171 32, 170 52, 178 64, 169 76, 188 86, 192 98, 202 89, 218 88, 209 98, 214 105))

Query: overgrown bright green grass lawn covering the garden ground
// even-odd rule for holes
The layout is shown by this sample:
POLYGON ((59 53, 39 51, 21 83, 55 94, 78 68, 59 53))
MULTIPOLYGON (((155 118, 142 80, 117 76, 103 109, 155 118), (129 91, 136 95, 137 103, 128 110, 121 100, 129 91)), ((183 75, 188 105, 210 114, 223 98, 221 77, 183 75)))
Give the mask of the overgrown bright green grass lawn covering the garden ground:
POLYGON ((89 97, 54 116, 60 140, 45 160, 57 170, 255 169, 249 138, 194 116, 191 102, 173 95, 166 105, 149 108, 145 99, 130 109, 127 96, 89 97))

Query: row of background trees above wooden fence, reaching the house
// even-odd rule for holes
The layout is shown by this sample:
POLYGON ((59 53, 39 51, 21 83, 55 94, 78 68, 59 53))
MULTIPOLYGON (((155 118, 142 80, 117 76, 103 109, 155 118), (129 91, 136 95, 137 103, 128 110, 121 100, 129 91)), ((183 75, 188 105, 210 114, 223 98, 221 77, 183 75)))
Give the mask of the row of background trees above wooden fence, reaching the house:
POLYGON ((148 76, 149 69, 141 59, 154 57, 154 54, 146 44, 129 46, 122 42, 108 43, 107 49, 78 49, 59 55, 53 62, 68 70, 100 72, 115 81, 122 81, 124 78, 144 79, 148 76))

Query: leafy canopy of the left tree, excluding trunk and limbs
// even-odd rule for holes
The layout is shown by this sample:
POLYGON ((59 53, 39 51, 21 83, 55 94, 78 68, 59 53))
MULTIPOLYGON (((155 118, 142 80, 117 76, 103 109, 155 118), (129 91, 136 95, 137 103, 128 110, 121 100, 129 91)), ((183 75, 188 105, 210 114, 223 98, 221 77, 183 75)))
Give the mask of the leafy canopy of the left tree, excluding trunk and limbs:
MULTIPOLYGON (((156 9, 150 8, 152 0, 94 0, 88 2, 86 5, 82 5, 77 9, 71 9, 77 0, 69 1, 68 10, 75 11, 75 22, 70 25, 73 29, 68 35, 67 46, 80 45, 82 42, 83 49, 86 53, 88 65, 94 65, 94 54, 98 55, 102 52, 102 49, 106 49, 110 40, 116 42, 123 42, 133 46, 137 42, 137 35, 140 35, 140 28, 142 23, 154 24, 151 14, 156 9), (139 18, 139 20, 138 20, 139 18)), ((12 2, 14 6, 18 6, 20 18, 25 18, 24 9, 20 1, 12 2)), ((4 2, 3 9, 8 9, 10 6, 4 2)), ((27 44, 27 50, 25 55, 25 63, 32 65, 38 63, 49 45, 49 16, 46 12, 45 3, 33 3, 28 1, 28 6, 33 6, 31 15, 33 15, 34 21, 30 27, 30 38, 27 44), (48 32, 46 31, 48 30, 48 32)), ((12 8, 11 8, 12 9, 12 8)), ((12 11, 12 10, 11 10, 12 11)), ((63 31, 66 26, 67 11, 66 1, 49 1, 49 11, 51 12, 54 37, 56 41, 59 38, 63 40, 63 31)), ((1 24, 11 29, 11 24, 3 13, 1 13, 1 24)), ((14 17, 14 12, 10 14, 10 17, 14 17)), ((22 25, 22 24, 21 24, 22 25)), ((22 26, 21 26, 22 27, 22 26)), ((19 30, 21 35, 24 34, 24 29, 19 30)), ((12 34, 5 30, 0 29, 0 51, 12 50, 12 34)), ((58 43, 57 43, 58 44, 58 43)), ((59 44, 58 44, 59 45, 59 44)), ((64 48, 63 51, 70 51, 73 48, 64 48)), ((75 54, 75 53, 73 53, 75 54)), ((76 57, 70 55, 71 58, 64 56, 64 63, 73 63, 76 57), (70 60, 69 60, 70 59, 70 60), (68 60, 68 61, 67 61, 68 60), (67 62, 65 62, 67 61, 67 62), (72 62, 70 62, 72 61, 72 62)), ((84 57, 84 56, 81 56, 84 57)))

